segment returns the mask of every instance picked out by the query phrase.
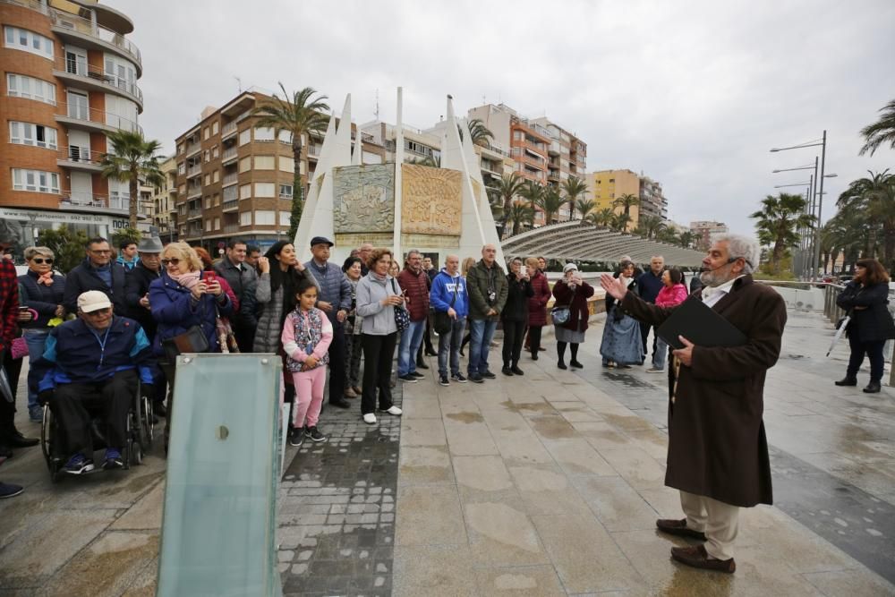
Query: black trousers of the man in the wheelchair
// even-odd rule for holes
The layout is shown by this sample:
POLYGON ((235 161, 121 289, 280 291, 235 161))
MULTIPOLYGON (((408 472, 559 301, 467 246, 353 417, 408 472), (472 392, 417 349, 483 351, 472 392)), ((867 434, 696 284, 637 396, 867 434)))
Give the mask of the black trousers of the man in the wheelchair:
POLYGON ((137 393, 137 372, 119 371, 99 383, 66 383, 57 388, 50 400, 65 454, 80 452, 93 457, 92 417, 88 407, 98 408, 106 422, 108 448, 123 450, 127 442, 127 413, 137 393))

